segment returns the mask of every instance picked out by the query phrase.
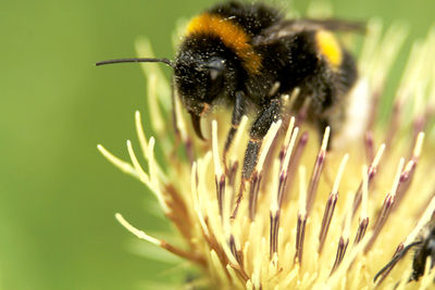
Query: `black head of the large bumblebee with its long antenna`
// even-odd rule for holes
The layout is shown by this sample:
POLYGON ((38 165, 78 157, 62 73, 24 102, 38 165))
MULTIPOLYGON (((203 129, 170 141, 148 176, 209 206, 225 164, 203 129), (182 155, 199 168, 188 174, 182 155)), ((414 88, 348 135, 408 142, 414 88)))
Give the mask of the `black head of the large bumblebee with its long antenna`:
POLYGON ((127 62, 160 62, 174 70, 176 89, 191 115, 195 133, 201 139, 201 116, 210 111, 219 96, 235 93, 236 76, 240 72, 234 53, 222 41, 201 37, 187 39, 175 62, 167 59, 133 58, 102 61, 96 65, 127 62))

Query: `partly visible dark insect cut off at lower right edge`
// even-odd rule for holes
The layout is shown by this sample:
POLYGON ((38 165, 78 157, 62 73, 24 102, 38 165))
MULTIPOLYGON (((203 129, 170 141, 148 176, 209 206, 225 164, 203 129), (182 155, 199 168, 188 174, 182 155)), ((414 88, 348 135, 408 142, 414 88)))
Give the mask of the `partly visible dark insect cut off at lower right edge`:
MULTIPOLYGON (((424 274, 427 257, 431 257, 431 268, 435 266, 435 218, 432 219, 422 228, 415 241, 405 247, 400 252, 395 254, 391 261, 388 262, 373 278, 376 281, 378 277, 383 278, 393 269, 393 267, 401 260, 409 250, 415 249, 412 259, 412 274, 409 281, 418 281, 424 274)), ((382 279, 383 279, 382 278, 382 279)))

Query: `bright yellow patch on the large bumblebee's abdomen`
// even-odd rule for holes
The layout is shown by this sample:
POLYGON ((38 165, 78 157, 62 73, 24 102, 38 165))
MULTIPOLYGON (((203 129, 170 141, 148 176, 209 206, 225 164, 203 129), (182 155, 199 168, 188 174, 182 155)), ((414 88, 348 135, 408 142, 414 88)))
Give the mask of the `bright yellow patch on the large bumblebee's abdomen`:
POLYGON ((338 68, 343 61, 341 47, 335 36, 326 30, 315 33, 315 42, 320 53, 333 65, 338 68))

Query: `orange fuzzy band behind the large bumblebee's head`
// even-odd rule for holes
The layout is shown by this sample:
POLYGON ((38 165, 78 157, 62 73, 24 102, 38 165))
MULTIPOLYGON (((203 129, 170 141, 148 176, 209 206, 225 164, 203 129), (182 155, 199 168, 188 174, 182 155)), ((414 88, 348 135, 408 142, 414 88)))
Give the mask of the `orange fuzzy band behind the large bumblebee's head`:
POLYGON ((238 58, 244 67, 251 74, 258 74, 261 66, 261 56, 253 51, 249 43, 250 37, 237 23, 220 15, 204 13, 194 17, 187 26, 187 36, 215 36, 238 58))

